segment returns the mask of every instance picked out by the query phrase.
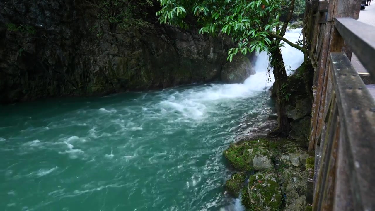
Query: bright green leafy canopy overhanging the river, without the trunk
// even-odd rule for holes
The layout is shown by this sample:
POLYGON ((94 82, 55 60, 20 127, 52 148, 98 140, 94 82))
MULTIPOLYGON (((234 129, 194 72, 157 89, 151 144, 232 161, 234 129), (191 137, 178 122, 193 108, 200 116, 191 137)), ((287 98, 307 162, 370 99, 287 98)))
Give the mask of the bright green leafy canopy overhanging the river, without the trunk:
POLYGON ((275 42, 270 33, 279 26, 279 14, 285 0, 158 0, 162 9, 156 13, 160 23, 187 28, 195 20, 199 33, 229 35, 238 47, 228 51, 228 60, 238 52, 269 51, 275 42))

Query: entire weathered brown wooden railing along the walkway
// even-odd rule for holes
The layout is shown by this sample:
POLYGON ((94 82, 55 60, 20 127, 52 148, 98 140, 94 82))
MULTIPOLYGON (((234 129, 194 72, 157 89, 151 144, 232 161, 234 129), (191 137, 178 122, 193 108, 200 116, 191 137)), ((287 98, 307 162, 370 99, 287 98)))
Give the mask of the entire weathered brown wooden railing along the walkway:
POLYGON ((375 27, 356 20, 361 0, 308 1, 304 33, 315 67, 312 207, 373 211, 375 102, 350 59, 354 51, 375 78, 375 27))

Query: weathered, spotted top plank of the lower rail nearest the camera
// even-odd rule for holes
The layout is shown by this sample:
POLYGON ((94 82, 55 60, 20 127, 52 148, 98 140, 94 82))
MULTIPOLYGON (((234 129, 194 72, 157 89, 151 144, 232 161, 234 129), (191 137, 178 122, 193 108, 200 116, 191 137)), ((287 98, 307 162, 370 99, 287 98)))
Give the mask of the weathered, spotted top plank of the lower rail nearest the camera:
POLYGON ((355 210, 375 210, 375 102, 345 53, 330 53, 355 210))

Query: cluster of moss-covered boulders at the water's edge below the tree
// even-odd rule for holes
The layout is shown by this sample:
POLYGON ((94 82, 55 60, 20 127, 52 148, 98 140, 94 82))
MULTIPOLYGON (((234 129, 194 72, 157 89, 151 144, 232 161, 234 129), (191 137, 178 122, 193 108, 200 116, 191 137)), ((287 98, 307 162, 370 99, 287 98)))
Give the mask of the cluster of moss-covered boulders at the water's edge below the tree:
POLYGON ((254 211, 305 208, 308 173, 305 166, 311 168, 314 160, 308 158, 299 142, 269 138, 242 140, 230 145, 224 156, 234 168, 242 171, 225 184, 234 196, 238 197, 239 188, 245 182, 244 172, 256 172, 241 190, 241 201, 246 208, 254 211), (285 202, 282 207, 281 200, 285 202))

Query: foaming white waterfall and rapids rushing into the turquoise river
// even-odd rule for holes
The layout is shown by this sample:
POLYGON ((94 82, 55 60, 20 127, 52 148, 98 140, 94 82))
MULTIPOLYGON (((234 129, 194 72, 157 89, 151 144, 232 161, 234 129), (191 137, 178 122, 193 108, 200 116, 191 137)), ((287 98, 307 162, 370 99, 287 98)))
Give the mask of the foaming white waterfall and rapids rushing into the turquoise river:
MULTIPOLYGON (((288 30, 285 33, 285 38, 296 43, 301 30, 288 30)), ((282 55, 287 70, 295 70, 303 62, 303 53, 290 45, 285 44, 285 47, 282 48, 282 55)), ((266 52, 257 55, 254 68, 256 74, 251 75, 244 83, 210 84, 210 86, 168 93, 158 104, 161 107, 160 110, 161 112, 178 112, 183 116, 179 120, 190 121, 189 119, 202 119, 209 116, 209 113, 215 112, 222 103, 230 104, 233 99, 255 96, 259 91, 272 86, 275 80, 272 71, 270 72, 271 75, 267 73, 269 56, 266 52)), ((288 74, 291 74, 291 71, 288 71, 288 74)))

